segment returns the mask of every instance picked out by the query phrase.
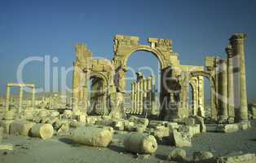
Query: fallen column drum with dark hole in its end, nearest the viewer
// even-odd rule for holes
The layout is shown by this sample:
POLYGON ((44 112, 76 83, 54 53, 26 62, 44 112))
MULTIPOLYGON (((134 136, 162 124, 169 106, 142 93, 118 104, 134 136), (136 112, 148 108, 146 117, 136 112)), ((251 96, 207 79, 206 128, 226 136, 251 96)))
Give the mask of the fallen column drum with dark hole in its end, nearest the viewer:
POLYGON ((124 140, 124 147, 128 152, 152 154, 157 152, 157 140, 152 135, 130 133, 124 140))

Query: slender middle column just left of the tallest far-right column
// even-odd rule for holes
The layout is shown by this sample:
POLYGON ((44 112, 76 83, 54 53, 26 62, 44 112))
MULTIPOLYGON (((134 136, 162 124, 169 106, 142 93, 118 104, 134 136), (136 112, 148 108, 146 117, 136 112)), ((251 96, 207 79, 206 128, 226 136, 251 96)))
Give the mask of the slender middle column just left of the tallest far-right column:
POLYGON ((235 117, 232 46, 228 45, 225 50, 226 50, 226 53, 227 53, 227 97, 228 97, 227 108, 228 108, 228 117, 235 117))

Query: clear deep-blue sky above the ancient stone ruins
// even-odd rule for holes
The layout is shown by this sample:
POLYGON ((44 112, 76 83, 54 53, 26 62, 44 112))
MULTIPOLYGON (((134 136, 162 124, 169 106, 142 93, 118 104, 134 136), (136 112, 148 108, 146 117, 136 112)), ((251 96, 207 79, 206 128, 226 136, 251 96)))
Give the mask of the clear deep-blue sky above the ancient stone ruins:
MULTIPOLYGON (((170 38, 181 64, 204 64, 205 55, 225 57, 232 33, 248 33, 246 73, 249 99, 255 99, 256 1, 0 1, 0 94, 8 81, 16 81, 16 69, 29 56, 51 55, 70 67, 74 45, 85 42, 94 56, 113 57, 115 34, 170 38)), ((154 56, 132 55, 129 64, 143 60, 156 66, 154 56)), ((24 68, 24 81, 43 85, 43 65, 24 68)), ((71 74, 68 78, 71 85, 71 74)), ((52 87, 52 86, 51 86, 52 87)))

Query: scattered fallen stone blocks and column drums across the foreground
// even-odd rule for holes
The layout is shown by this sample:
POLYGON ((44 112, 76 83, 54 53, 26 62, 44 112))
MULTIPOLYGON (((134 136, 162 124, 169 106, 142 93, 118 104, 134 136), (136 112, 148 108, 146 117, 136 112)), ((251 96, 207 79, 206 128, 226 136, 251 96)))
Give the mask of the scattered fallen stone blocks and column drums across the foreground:
MULTIPOLYGON (((192 146, 192 137, 206 132, 204 118, 193 116, 174 121, 148 121, 147 118, 129 117, 117 119, 111 116, 87 116, 80 111, 65 110, 60 114, 55 110, 38 109, 24 112, 24 116, 15 117, 15 112, 7 111, 0 121, 0 141, 2 135, 51 139, 53 135, 65 135, 74 143, 92 147, 107 148, 113 143, 113 134, 125 134, 123 148, 127 152, 153 156, 157 152, 157 143, 167 140, 175 148, 166 156, 169 161, 188 161, 183 148, 192 146)), ((217 125, 215 131, 232 132, 245 130, 249 123, 217 125)), ((1 144, 0 149, 12 150, 11 144, 1 144)), ((255 154, 236 154, 216 157, 211 152, 194 152, 194 162, 256 162, 255 154)))

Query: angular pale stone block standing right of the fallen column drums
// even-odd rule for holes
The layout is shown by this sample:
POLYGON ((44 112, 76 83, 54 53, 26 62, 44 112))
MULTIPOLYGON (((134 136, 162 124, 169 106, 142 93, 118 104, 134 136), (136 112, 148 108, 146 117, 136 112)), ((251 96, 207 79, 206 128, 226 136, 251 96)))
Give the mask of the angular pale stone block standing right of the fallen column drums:
POLYGON ((191 135, 188 132, 174 130, 172 133, 171 142, 173 142, 177 148, 191 147, 191 141, 191 135))

